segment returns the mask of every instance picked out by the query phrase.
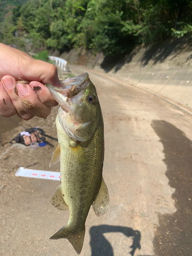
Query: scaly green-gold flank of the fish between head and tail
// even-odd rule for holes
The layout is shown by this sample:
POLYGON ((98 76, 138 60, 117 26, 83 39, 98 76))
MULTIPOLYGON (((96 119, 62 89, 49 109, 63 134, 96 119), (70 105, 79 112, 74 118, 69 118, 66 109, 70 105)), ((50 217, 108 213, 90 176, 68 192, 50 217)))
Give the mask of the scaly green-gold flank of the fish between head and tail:
POLYGON ((89 150, 87 150, 87 152, 87 142, 83 142, 81 146, 78 145, 79 150, 74 150, 75 147, 71 148, 71 146, 69 146, 71 139, 65 132, 63 133, 59 122, 56 121, 56 123, 58 125, 57 131, 59 131, 58 140, 60 138, 60 146, 63 148, 61 152, 65 152, 61 153, 60 157, 60 169, 62 170, 62 172, 60 172, 60 180, 61 188, 65 195, 64 199, 70 209, 70 221, 68 224, 71 225, 73 231, 78 232, 79 229, 84 228, 90 206, 100 188, 103 162, 103 143, 100 142, 103 140, 103 132, 101 128, 97 130, 96 136, 99 139, 88 142, 89 150), (76 155, 82 153, 80 154, 80 160, 74 157, 74 151, 76 155), (77 167, 77 165, 79 166, 77 167), (91 166, 91 168, 88 168, 88 166, 91 166), (82 175, 83 173, 84 175, 82 175), (79 174, 81 175, 79 176, 79 174), (69 184, 75 184, 75 187, 69 184), (79 223, 81 225, 79 225, 79 223), (77 225, 78 229, 76 229, 77 225))

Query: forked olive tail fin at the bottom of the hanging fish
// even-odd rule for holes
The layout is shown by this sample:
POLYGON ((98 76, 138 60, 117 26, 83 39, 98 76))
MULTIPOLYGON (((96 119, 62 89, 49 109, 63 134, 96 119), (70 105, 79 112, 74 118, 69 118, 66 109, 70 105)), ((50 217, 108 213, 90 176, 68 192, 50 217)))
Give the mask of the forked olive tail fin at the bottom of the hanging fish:
POLYGON ((69 242, 73 245, 73 248, 76 250, 77 254, 80 254, 83 241, 84 233, 86 232, 86 227, 81 232, 70 231, 66 226, 62 227, 58 232, 56 232, 50 239, 60 239, 67 238, 69 242))

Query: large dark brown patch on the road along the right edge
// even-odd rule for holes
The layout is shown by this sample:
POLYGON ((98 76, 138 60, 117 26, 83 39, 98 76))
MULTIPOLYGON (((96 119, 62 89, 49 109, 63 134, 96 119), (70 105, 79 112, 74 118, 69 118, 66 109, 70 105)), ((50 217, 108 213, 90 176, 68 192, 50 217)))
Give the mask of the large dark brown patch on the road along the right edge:
POLYGON ((154 238, 155 255, 189 256, 192 251, 192 142, 173 124, 154 120, 152 127, 163 144, 164 163, 177 211, 159 215, 154 238))

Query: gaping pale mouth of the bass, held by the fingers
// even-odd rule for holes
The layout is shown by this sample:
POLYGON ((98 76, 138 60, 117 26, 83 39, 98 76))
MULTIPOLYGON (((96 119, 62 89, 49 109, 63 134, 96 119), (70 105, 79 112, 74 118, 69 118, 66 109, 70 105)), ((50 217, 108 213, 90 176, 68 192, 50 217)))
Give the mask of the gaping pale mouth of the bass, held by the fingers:
POLYGON ((90 78, 88 73, 84 73, 75 77, 68 77, 65 80, 60 81, 60 88, 46 84, 49 88, 53 98, 59 103, 61 108, 66 112, 69 112, 70 104, 81 104, 84 90, 90 84, 90 78))

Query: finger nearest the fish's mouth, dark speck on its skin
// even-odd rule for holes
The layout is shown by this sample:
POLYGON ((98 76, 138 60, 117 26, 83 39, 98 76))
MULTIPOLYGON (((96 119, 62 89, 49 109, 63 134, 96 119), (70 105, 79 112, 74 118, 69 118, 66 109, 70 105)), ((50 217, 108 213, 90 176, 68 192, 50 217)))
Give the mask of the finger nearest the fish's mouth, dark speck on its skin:
POLYGON ((32 81, 29 83, 32 90, 35 90, 34 92, 38 96, 39 100, 46 106, 56 106, 58 105, 57 101, 54 100, 54 98, 51 95, 51 92, 49 89, 44 86, 44 84, 32 81), (40 88, 40 89, 39 89, 40 88), (39 90, 38 90, 39 89, 39 90))

